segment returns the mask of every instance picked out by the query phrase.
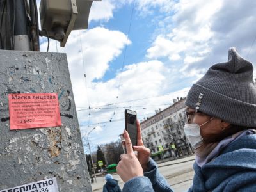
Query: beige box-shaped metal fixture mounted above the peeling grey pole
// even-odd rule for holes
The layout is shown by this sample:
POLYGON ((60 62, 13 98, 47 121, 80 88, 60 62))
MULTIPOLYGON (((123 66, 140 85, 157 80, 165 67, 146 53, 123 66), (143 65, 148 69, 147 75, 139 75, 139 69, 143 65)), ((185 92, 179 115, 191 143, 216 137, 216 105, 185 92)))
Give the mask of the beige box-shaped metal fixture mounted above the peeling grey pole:
POLYGON ((88 29, 91 6, 91 0, 41 0, 41 34, 64 47, 72 30, 88 29))

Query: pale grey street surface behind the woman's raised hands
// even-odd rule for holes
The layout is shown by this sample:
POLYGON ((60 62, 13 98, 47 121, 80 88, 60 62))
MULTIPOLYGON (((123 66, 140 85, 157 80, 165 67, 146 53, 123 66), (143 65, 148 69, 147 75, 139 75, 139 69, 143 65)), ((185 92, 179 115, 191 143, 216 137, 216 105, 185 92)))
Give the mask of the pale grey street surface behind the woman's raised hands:
MULTIPOLYGON (((193 163, 195 156, 189 156, 174 161, 157 164, 159 172, 165 177, 175 192, 187 191, 192 184, 194 170, 193 163)), ((114 174, 113 178, 118 180, 118 184, 122 189, 124 182, 118 174, 114 174)), ((106 183, 104 177, 97 177, 97 183, 92 184, 93 192, 102 192, 103 185, 106 183)))

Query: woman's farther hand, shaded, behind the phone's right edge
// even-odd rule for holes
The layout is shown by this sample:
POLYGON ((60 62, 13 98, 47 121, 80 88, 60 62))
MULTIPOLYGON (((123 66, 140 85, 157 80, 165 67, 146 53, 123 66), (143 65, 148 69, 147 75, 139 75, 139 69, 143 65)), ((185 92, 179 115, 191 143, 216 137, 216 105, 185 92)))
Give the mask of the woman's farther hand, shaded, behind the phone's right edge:
POLYGON ((141 129, 140 129, 140 122, 137 120, 137 145, 133 146, 134 150, 138 151, 138 160, 143 168, 143 170, 147 170, 148 162, 150 159, 150 149, 146 148, 143 144, 142 136, 141 136, 141 129))

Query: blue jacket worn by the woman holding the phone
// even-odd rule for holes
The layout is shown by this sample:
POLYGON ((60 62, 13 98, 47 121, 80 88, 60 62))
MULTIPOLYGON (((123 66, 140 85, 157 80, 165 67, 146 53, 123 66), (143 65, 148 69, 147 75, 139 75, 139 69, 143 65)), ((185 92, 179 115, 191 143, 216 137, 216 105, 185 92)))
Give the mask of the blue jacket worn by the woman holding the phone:
MULTIPOLYGON (((225 147, 218 157, 204 164, 195 163, 193 186, 189 192, 256 191, 256 134, 242 136, 225 147)), ((134 177, 123 191, 173 191, 150 159, 144 177, 134 177)))

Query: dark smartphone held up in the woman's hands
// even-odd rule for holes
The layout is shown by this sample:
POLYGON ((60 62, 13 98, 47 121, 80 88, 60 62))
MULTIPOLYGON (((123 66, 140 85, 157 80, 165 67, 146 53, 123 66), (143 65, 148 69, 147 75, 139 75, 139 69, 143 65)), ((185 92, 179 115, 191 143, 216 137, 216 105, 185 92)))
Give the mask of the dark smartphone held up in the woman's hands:
POLYGON ((137 114, 136 111, 125 109, 125 130, 128 132, 132 146, 137 145, 137 114))

